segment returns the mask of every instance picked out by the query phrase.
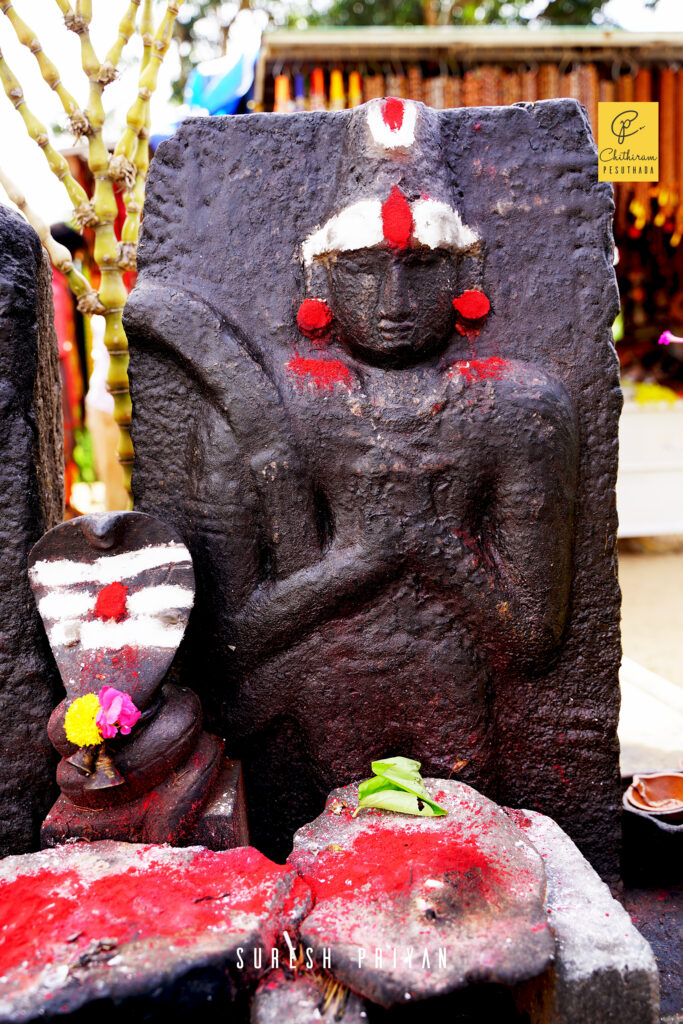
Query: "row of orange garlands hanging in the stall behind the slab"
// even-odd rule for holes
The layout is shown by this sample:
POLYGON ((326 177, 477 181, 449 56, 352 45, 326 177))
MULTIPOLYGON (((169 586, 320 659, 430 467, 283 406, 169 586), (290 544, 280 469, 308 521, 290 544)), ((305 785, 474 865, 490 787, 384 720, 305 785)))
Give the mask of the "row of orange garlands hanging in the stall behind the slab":
POLYGON ((281 62, 270 95, 266 91, 265 108, 279 113, 337 111, 384 96, 416 99, 436 110, 571 96, 586 108, 594 134, 599 102, 658 102, 660 180, 616 182, 616 231, 637 239, 654 224, 673 247, 683 238, 683 70, 677 66, 627 67, 618 61, 571 59, 561 65, 546 60, 455 67, 432 59, 405 67, 392 60, 381 70, 378 65, 369 69, 339 61, 294 70, 281 62))

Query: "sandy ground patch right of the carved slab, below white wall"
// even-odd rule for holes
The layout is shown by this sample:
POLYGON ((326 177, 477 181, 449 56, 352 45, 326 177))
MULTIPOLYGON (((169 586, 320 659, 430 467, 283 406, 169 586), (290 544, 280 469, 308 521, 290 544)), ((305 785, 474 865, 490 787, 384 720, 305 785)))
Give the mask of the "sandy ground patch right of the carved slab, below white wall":
POLYGON ((618 575, 624 653, 683 687, 683 540, 620 544, 618 575))

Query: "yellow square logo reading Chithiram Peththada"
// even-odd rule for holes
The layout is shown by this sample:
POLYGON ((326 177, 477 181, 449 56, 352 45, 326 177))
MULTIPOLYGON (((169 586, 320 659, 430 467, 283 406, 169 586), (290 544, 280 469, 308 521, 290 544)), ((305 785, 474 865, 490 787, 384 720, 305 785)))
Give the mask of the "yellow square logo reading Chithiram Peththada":
POLYGON ((659 180, 658 103, 598 103, 598 180, 659 180))

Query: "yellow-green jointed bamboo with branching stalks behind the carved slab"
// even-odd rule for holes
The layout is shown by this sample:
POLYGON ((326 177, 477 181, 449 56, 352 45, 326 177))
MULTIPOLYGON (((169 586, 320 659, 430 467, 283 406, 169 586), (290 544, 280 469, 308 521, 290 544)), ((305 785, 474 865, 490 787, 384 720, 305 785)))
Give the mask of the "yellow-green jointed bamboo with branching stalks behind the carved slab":
POLYGON ((102 313, 104 316, 104 344, 110 354, 106 384, 114 397, 114 419, 119 427, 118 456, 129 496, 133 446, 130 438, 128 340, 122 322, 127 297, 123 273, 135 266, 144 186, 150 167, 150 100, 157 87, 159 70, 171 43, 173 26, 182 2, 183 0, 167 0, 166 12, 155 33, 152 0, 129 0, 128 8, 119 23, 117 38, 109 49, 105 59, 100 62, 90 40, 91 0, 76 0, 75 8, 72 7, 70 0, 55 0, 63 15, 65 25, 80 40, 81 65, 90 86, 87 110, 83 112, 79 110, 71 93, 61 85, 57 68, 43 52, 33 30, 14 12, 12 0, 0 0, 0 10, 11 22, 19 42, 34 53, 43 79, 57 93, 65 111, 72 119, 72 127, 74 119, 78 119, 80 115, 83 119, 81 133, 86 134, 88 138, 88 165, 95 182, 92 202, 71 175, 67 161, 50 145, 44 125, 28 109, 19 83, 0 52, 0 79, 7 96, 22 116, 29 135, 43 150, 50 169, 65 184, 75 207, 76 219, 82 225, 92 226, 94 230, 94 258, 100 271, 98 294, 75 269, 69 251, 52 239, 47 225, 31 210, 16 186, 5 176, 0 179, 0 183, 7 189, 12 201, 36 227, 53 265, 67 274, 81 311, 87 314, 102 313), (104 124, 102 92, 116 78, 123 48, 135 31, 140 3, 142 11, 139 31, 142 37, 143 55, 138 92, 128 111, 126 129, 110 159, 102 138, 104 124), (123 186, 126 206, 126 219, 120 244, 117 242, 114 226, 118 214, 115 181, 123 186))

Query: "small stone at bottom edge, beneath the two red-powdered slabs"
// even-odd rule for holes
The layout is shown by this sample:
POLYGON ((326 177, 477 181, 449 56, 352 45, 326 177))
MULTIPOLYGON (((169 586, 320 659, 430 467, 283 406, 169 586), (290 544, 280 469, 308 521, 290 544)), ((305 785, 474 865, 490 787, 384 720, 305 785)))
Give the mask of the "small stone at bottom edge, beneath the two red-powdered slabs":
POLYGON ((254 993, 251 1024, 316 1024, 337 1021, 341 1024, 364 1024, 368 1020, 365 1002, 343 986, 329 1006, 319 984, 308 975, 288 976, 285 971, 272 971, 254 993))

